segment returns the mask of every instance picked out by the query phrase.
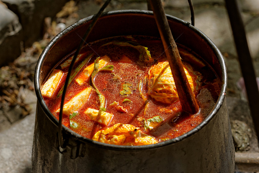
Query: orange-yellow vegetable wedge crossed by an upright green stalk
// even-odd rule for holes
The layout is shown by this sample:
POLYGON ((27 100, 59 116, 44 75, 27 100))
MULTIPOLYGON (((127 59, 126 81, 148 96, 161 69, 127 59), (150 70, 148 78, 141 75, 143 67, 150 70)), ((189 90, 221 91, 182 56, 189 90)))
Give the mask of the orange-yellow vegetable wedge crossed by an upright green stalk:
MULTIPOLYGON (((111 59, 108 56, 106 56, 106 55, 102 56, 98 62, 99 63, 98 69, 101 69, 110 61, 111 61, 111 59)), ((95 65, 95 63, 92 63, 89 66, 87 66, 83 70, 83 72, 76 78, 76 82, 79 85, 82 85, 85 81, 87 81, 89 79, 89 77, 92 75, 92 72, 94 70, 94 65, 95 65)))

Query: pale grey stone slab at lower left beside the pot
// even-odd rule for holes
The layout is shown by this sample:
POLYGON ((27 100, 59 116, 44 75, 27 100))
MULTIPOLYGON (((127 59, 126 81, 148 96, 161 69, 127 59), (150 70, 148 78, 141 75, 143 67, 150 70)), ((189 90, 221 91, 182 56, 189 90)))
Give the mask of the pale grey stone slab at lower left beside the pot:
POLYGON ((0 133, 2 173, 30 173, 35 112, 0 133))

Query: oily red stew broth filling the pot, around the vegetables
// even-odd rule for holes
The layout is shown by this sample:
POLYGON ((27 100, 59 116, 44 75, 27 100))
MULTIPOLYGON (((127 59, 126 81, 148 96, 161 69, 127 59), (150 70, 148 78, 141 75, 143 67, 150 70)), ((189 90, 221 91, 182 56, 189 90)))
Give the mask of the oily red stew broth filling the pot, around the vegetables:
MULTIPOLYGON (((200 111, 194 115, 189 115, 183 112, 180 101, 176 101, 170 105, 165 105, 157 103, 147 96, 148 90, 144 83, 145 75, 147 75, 153 64, 166 60, 164 47, 159 38, 144 36, 111 37, 108 39, 98 40, 89 44, 89 46, 83 47, 80 53, 86 52, 85 57, 90 53, 95 53, 94 58, 89 61, 88 65, 93 63, 97 57, 107 55, 111 58, 111 62, 107 65, 114 66, 114 70, 112 71, 113 74, 110 72, 98 72, 94 78, 95 86, 106 99, 106 112, 114 115, 107 127, 111 127, 116 123, 132 124, 135 127, 139 127, 143 133, 155 137, 158 142, 162 142, 183 135, 195 128, 204 120, 205 117, 207 117, 219 96, 221 89, 220 80, 214 70, 197 54, 182 45, 178 45, 178 50, 183 62, 192 66, 193 70, 201 73, 200 85, 198 86, 197 92, 195 92, 195 97, 198 101, 200 111), (113 40, 132 41, 141 46, 148 47, 151 57, 154 58, 155 61, 147 64, 138 62, 139 52, 130 47, 111 45, 100 47, 101 45, 113 40), (122 56, 129 57, 133 63, 119 62, 122 56), (121 79, 117 81, 113 80, 114 75, 119 76, 121 79), (148 98, 147 101, 144 101, 140 96, 138 90, 140 80, 142 80, 143 83, 141 91, 148 98), (121 84, 125 82, 129 82, 133 85, 132 94, 127 97, 122 96, 119 93, 121 84), (122 103, 125 98, 132 102, 122 103), (127 110, 127 113, 121 113, 116 109, 116 107, 110 106, 114 101, 117 101, 120 106, 123 106, 123 108, 127 110), (148 108, 145 109, 146 104, 148 104, 148 108), (156 127, 151 131, 146 131, 143 127, 142 119, 148 119, 158 115, 164 120, 161 126, 156 127)), ((57 64, 57 66, 54 67, 54 69, 61 69, 60 64, 73 56, 73 54, 74 52, 67 55, 57 64)), ((82 62, 83 59, 80 62, 82 62)), ((76 62, 75 67, 78 66, 80 62, 76 62)), ((58 85, 58 91, 64 85, 67 70, 68 67, 66 69, 62 69, 64 75, 58 85)), ((89 81, 84 82, 81 86, 76 82, 73 82, 67 89, 65 103, 78 92, 89 86, 89 81)), ((61 102, 61 95, 57 97, 58 91, 54 93, 53 97, 44 98, 45 103, 57 119, 59 119, 59 114, 55 113, 55 111, 60 107, 61 102)), ((92 90, 89 99, 86 101, 84 106, 78 110, 80 116, 76 117, 76 120, 82 123, 86 128, 78 130, 72 128, 71 130, 82 136, 91 138, 97 131, 106 127, 90 120, 89 117, 84 114, 84 111, 88 107, 96 110, 99 109, 98 96, 94 90, 92 90)), ((70 128, 69 116, 63 115, 62 123, 66 127, 70 128)))

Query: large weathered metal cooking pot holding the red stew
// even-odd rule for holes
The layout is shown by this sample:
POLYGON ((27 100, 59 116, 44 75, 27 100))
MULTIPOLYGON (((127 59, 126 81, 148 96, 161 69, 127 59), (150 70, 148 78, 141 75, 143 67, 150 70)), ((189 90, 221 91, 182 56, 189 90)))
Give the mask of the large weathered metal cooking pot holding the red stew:
MULTIPOLYGON (((67 146, 60 151, 58 120, 40 93, 48 72, 77 48, 92 16, 58 34, 42 52, 35 72, 38 98, 32 151, 33 172, 233 172, 234 145, 226 105, 226 66, 212 41, 186 21, 167 15, 176 42, 203 57, 222 81, 220 96, 206 119, 186 134, 147 146, 116 146, 87 139, 63 126, 67 146)), ((159 37, 151 11, 106 12, 87 43, 120 35, 159 37)))

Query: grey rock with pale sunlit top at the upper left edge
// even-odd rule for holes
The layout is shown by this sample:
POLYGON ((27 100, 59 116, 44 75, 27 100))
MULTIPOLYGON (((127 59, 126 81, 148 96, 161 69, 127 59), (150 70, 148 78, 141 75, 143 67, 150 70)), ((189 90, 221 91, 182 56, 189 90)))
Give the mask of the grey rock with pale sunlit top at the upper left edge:
POLYGON ((20 56, 21 24, 16 14, 0 4, 0 66, 20 56))

